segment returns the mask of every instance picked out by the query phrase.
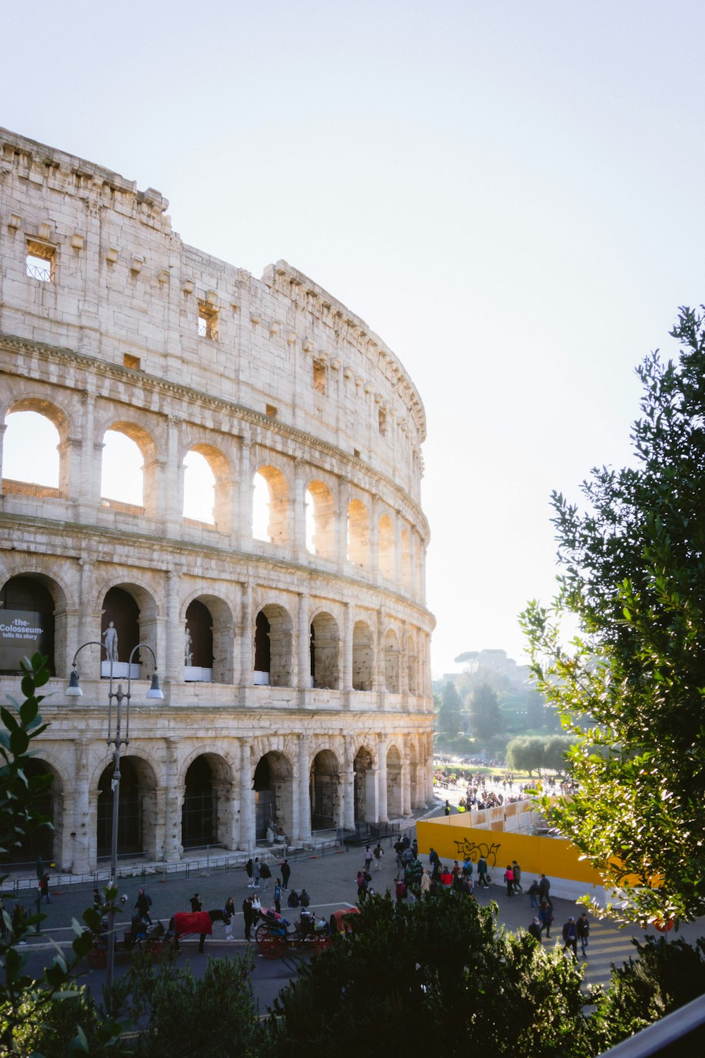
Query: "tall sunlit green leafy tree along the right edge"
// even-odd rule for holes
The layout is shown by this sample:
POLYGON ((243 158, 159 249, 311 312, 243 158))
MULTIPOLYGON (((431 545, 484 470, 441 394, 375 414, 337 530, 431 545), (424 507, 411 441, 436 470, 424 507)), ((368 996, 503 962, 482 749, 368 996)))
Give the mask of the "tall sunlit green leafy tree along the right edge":
POLYGON ((585 513, 554 493, 559 594, 522 615, 538 687, 580 736, 552 819, 641 920, 705 912, 704 318, 682 309, 678 362, 637 368, 634 466, 593 470, 585 513))

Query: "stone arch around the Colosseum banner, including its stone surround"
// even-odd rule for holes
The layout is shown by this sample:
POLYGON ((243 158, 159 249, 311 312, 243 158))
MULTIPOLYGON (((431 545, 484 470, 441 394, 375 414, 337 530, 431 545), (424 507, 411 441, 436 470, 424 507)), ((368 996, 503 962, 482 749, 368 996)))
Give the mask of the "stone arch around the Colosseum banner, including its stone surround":
MULTIPOLYGON (((20 659, 40 651, 49 658, 51 674, 62 675, 57 672, 56 660, 66 656, 63 588, 38 570, 18 571, 2 585, 0 603, 1 623, 7 630, 0 639, 0 672, 19 672, 20 659)), ((61 661, 59 669, 62 667, 61 661)))

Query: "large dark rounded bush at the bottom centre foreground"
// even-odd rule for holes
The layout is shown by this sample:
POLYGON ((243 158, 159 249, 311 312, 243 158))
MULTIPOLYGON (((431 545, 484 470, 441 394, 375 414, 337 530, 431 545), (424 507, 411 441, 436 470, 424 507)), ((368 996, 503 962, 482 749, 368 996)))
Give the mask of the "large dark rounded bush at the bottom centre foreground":
POLYGON ((496 907, 449 893, 394 906, 366 900, 348 940, 302 965, 275 1002, 262 1056, 532 1055, 586 1052, 581 975, 523 931, 498 932, 496 907), (508 1016, 511 1011, 511 1017, 508 1016))

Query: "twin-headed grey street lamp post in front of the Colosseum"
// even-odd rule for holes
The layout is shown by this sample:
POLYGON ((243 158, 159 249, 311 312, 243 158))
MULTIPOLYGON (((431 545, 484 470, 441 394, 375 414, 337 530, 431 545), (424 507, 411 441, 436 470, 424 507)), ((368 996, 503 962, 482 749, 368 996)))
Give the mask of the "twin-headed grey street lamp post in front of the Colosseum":
MULTIPOLYGON (((69 681, 69 687, 67 688, 67 696, 70 698, 79 698, 82 695, 82 691, 78 685, 78 672, 76 669, 76 662, 78 660, 78 655, 86 646, 98 646, 103 647, 108 655, 108 660, 110 661, 110 683, 108 687, 108 745, 114 746, 113 749, 113 778, 111 782, 111 788, 113 792, 113 822, 112 822, 112 834, 110 841, 110 888, 115 889, 117 881, 117 822, 119 813, 119 751, 120 746, 129 745, 130 742, 130 697, 132 692, 132 658, 134 657, 135 651, 141 649, 148 650, 152 656, 154 662, 154 674, 152 676, 152 685, 147 691, 148 698, 163 698, 164 694, 160 688, 159 676, 156 675, 156 657, 154 656, 154 651, 148 643, 137 643, 130 651, 130 657, 127 667, 127 693, 123 692, 123 685, 117 685, 117 690, 113 691, 113 658, 110 656, 108 649, 104 642, 97 642, 96 640, 90 640, 87 643, 82 643, 76 651, 72 664, 71 679, 69 681), (113 698, 115 699, 115 723, 113 727, 113 698), (123 701, 126 703, 125 706, 125 736, 123 737, 122 732, 122 722, 123 722, 123 701)), ((108 967, 106 972, 106 986, 108 989, 112 987, 113 975, 115 969, 115 900, 111 901, 111 910, 108 918, 108 967)))

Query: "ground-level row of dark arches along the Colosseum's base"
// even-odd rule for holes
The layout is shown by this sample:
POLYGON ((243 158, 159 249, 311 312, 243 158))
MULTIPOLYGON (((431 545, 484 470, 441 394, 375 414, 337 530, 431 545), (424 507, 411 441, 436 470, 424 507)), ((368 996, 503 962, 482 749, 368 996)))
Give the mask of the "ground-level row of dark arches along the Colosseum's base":
MULTIPOLYGON (((392 744, 381 756, 361 746, 346 765, 333 748, 319 749, 301 771, 301 762, 282 750, 268 750, 254 767, 236 773, 216 749, 198 753, 164 796, 164 777, 137 749, 120 758, 118 855, 159 859, 184 851, 219 845, 252 847, 266 841, 292 841, 312 832, 340 828, 357 822, 387 821, 409 814, 424 802, 425 771, 412 743, 403 759, 392 744), (377 767, 375 767, 375 763, 377 767), (381 788, 384 784, 384 789, 381 788), (346 800, 348 806, 346 807, 346 800), (171 841, 165 843, 167 835, 171 841)), ((26 863, 41 855, 67 864, 77 831, 80 798, 66 769, 48 756, 34 758, 30 776, 50 774, 51 786, 41 804, 53 829, 26 837, 10 853, 8 862, 26 863)), ((99 766, 89 777, 86 798, 87 860, 91 869, 110 855, 113 816, 113 765, 99 766)), ((72 864, 80 870, 86 863, 72 864)))

